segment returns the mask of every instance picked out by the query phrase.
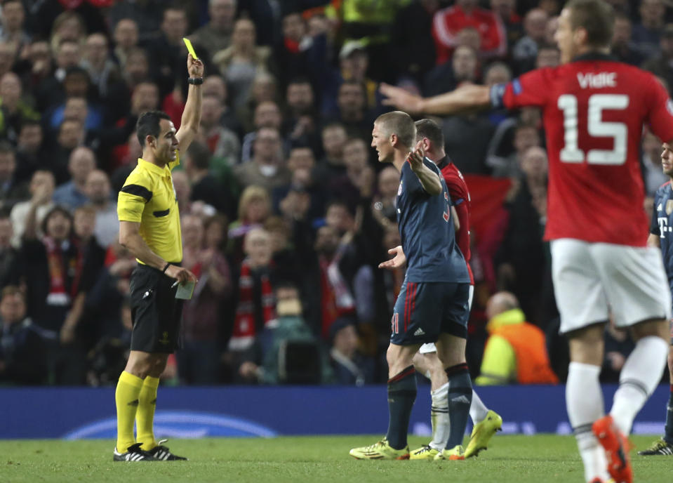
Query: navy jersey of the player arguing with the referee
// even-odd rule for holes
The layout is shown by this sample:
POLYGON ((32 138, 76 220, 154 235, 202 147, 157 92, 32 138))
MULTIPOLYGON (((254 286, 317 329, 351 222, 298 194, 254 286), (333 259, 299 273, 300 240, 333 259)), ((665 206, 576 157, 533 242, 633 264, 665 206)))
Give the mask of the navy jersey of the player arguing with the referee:
POLYGON ((430 196, 423 189, 411 165, 402 165, 397 190, 397 221, 406 255, 407 282, 469 283, 465 258, 455 243, 451 198, 439 168, 424 159, 441 179, 442 193, 430 196))

